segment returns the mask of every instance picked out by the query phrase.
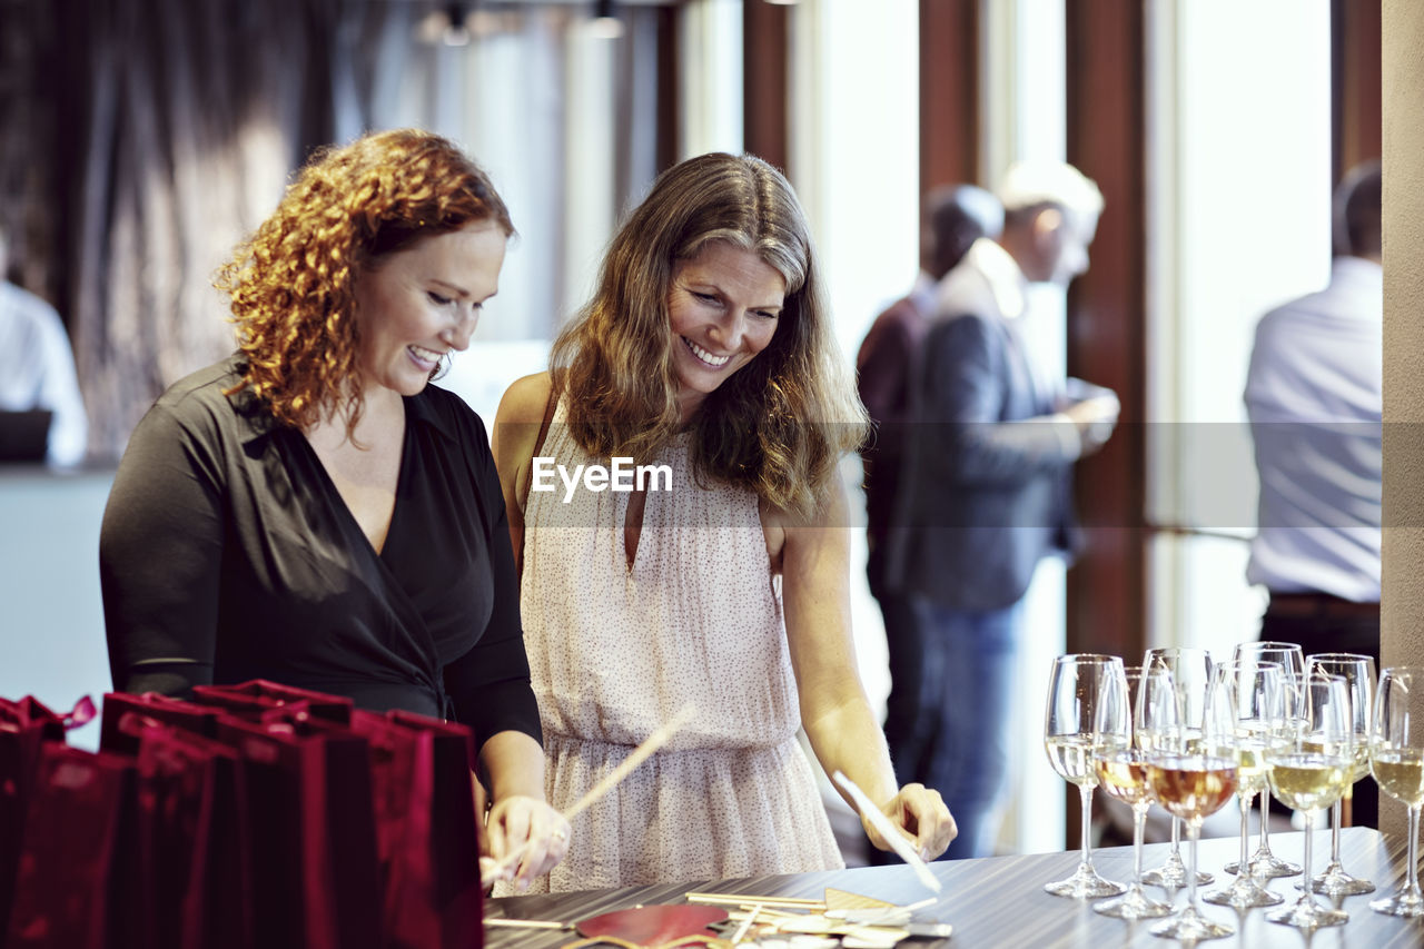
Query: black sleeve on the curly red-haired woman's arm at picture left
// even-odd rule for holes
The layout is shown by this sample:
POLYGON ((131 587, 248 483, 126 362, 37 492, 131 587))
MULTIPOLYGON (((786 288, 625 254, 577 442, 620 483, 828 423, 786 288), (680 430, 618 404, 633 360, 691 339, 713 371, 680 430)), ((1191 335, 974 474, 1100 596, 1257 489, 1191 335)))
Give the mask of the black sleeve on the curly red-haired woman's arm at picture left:
POLYGON ((215 426, 155 405, 130 437, 100 530, 117 691, 184 695, 212 681, 224 479, 215 426))

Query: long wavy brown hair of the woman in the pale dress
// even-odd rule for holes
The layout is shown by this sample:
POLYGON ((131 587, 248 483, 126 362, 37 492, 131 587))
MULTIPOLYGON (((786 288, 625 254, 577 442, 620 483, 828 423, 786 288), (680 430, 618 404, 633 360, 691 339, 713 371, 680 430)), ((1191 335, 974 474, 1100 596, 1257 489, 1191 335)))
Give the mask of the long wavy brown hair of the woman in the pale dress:
POLYGON ((772 342, 691 419, 693 474, 809 514, 867 419, 832 335, 806 215, 786 178, 753 155, 669 168, 614 235, 598 289, 550 358, 570 433, 595 457, 648 462, 685 427, 668 298, 675 264, 711 241, 758 254, 785 278, 786 298, 772 342))

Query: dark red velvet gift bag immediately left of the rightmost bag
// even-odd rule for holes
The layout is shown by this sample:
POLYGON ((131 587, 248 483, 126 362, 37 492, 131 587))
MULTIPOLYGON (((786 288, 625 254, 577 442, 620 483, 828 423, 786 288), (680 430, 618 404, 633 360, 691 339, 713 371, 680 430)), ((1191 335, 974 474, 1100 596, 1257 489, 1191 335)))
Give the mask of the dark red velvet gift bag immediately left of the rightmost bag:
POLYGON ((226 717, 246 774, 255 942, 377 949, 382 889, 365 738, 316 718, 226 717))

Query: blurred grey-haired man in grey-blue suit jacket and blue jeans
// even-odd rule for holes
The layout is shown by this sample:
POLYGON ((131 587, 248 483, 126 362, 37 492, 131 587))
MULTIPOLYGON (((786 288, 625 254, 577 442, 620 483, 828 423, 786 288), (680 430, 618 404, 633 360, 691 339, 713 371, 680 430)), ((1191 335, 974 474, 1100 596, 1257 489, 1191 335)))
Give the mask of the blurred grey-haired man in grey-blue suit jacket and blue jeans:
POLYGON ((977 241, 937 288, 889 567, 934 644, 924 782, 960 826, 951 858, 993 852, 1022 598, 1040 559, 1068 551, 1072 465, 1118 416, 1112 392, 1040 365, 1024 329, 1030 284, 1067 286, 1088 268, 1102 194, 1071 165, 1022 162, 1000 199, 998 241, 977 241))

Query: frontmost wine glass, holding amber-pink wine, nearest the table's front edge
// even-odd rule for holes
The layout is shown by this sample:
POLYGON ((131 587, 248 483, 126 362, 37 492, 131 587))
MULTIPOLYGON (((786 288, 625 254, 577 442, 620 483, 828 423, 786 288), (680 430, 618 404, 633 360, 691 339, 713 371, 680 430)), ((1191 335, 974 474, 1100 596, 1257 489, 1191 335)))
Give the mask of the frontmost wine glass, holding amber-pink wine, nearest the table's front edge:
MULTIPOLYGON (((1153 678, 1149 675, 1146 683, 1153 678)), ((1222 690, 1209 690, 1206 698, 1203 704, 1220 707, 1222 690)), ((1196 842, 1202 821, 1236 794, 1239 758, 1232 718, 1203 708, 1200 727, 1173 727, 1171 720, 1179 712, 1173 702, 1146 702, 1143 711, 1156 738, 1148 755, 1148 784, 1158 804, 1186 822, 1188 838, 1186 908, 1152 926, 1152 933, 1188 943, 1229 936, 1236 930, 1203 916, 1198 903, 1196 842), (1153 722, 1158 715, 1162 720, 1153 722)))

